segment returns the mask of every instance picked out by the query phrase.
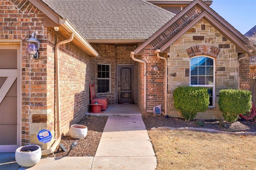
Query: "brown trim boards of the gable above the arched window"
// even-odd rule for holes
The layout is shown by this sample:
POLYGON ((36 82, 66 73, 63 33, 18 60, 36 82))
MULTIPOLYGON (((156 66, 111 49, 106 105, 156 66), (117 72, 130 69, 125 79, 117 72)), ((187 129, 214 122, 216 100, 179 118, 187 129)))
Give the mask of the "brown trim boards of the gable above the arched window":
MULTIPOLYGON (((174 32, 171 32, 169 36, 170 40, 167 42, 164 42, 164 45, 160 47, 161 52, 168 51, 168 47, 174 43, 178 38, 180 38, 186 31, 188 31, 196 22, 198 22, 200 19, 204 18, 206 21, 208 21, 212 26, 216 28, 221 34, 223 34, 228 40, 230 40, 232 43, 236 45, 236 51, 238 53, 243 53, 246 51, 245 44, 246 38, 238 32, 233 26, 231 26, 226 20, 224 20, 221 16, 219 16, 214 10, 212 10, 207 4, 202 2, 202 0, 194 0, 191 2, 184 10, 182 10, 180 13, 178 13, 172 20, 170 20, 167 24, 165 24, 160 30, 158 30, 153 36, 151 36, 148 40, 146 40, 142 45, 140 45, 138 48, 134 50, 134 54, 142 54, 142 50, 144 47, 146 47, 149 43, 154 41, 159 36, 162 36, 161 34, 168 30, 170 26, 174 25, 180 25, 180 20, 185 16, 186 13, 190 10, 193 10, 195 6, 198 6, 200 10, 202 11, 198 16, 193 18, 192 20, 186 20, 182 26, 174 30, 174 32), (178 24, 177 24, 178 23, 178 24)), ((167 31, 168 32, 168 31, 167 31)))

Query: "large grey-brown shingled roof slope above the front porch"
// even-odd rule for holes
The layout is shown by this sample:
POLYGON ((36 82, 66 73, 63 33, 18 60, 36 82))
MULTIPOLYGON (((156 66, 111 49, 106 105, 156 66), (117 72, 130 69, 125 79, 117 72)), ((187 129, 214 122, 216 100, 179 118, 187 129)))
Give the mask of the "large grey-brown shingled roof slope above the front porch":
POLYGON ((146 40, 175 14, 145 0, 42 0, 86 40, 146 40))

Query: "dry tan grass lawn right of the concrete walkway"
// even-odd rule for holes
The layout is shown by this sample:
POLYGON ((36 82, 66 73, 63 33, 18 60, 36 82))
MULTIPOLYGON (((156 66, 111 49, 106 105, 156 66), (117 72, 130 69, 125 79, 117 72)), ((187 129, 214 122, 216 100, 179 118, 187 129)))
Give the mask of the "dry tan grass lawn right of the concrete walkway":
POLYGON ((256 170, 256 136, 149 130, 157 170, 256 170))

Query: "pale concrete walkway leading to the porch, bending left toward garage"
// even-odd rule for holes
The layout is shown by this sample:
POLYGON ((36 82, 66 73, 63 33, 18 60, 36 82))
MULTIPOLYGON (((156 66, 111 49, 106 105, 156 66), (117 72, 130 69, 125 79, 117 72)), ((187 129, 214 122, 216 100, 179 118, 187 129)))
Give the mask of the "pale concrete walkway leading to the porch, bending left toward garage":
POLYGON ((94 157, 42 158, 24 168, 14 153, 0 154, 1 170, 154 170, 156 156, 142 117, 108 117, 94 157))

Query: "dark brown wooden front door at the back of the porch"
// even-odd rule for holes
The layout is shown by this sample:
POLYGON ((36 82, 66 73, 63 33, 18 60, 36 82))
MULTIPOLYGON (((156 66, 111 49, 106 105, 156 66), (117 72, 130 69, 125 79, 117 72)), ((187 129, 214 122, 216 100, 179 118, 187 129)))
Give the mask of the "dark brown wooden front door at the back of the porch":
POLYGON ((134 103, 134 65, 118 65, 118 103, 134 103))

